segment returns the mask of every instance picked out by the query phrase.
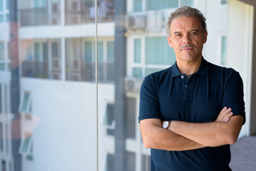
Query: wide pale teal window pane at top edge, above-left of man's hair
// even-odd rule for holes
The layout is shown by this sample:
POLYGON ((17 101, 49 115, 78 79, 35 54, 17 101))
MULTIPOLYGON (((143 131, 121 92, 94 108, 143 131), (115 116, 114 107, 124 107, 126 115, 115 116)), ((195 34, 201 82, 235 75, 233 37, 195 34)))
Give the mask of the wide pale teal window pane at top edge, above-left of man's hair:
POLYGON ((171 9, 178 7, 178 0, 148 0, 148 8, 149 10, 154 9, 171 9))

